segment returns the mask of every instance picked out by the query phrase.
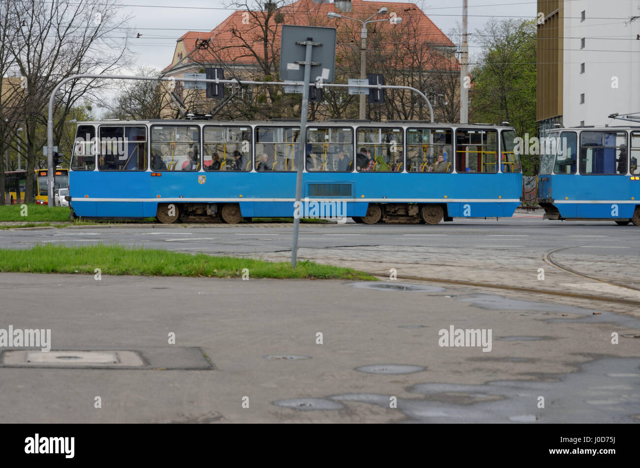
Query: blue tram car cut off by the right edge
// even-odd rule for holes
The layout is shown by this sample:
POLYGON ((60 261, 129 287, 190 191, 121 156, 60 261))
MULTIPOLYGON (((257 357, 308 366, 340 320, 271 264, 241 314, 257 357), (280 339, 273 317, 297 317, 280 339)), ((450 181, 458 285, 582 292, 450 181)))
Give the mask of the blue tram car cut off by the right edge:
POLYGON ((538 176, 545 219, 640 226, 640 127, 556 128, 547 139, 538 176))

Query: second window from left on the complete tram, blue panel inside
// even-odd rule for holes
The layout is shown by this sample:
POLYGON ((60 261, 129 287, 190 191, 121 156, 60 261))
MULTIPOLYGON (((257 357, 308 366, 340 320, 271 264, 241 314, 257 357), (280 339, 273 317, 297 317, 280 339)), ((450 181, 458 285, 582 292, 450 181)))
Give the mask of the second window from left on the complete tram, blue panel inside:
POLYGON ((147 170, 147 129, 100 125, 100 171, 147 170))

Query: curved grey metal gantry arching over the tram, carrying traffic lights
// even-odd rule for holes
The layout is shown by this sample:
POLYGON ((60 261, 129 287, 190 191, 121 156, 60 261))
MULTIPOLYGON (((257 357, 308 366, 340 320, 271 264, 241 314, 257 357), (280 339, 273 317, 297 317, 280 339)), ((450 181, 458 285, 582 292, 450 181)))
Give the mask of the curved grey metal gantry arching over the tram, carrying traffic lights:
MULTIPOLYGON (((309 72, 310 73, 310 72, 309 72)), ((60 90, 60 88, 62 87, 63 84, 69 82, 69 81, 74 81, 77 79, 81 79, 81 78, 97 78, 97 79, 113 79, 113 80, 144 80, 144 81, 188 81, 188 82, 207 82, 207 83, 240 83, 240 84, 258 84, 261 86, 264 85, 274 85, 274 86, 287 86, 290 84, 294 84, 297 86, 303 86, 303 97, 304 97, 304 90, 307 90, 307 105, 308 105, 308 82, 307 83, 301 83, 301 82, 294 82, 294 83, 284 83, 281 81, 238 81, 238 80, 221 80, 221 79, 196 79, 196 78, 182 78, 182 77, 159 77, 159 76, 128 76, 128 75, 94 75, 94 74, 82 74, 82 75, 72 75, 68 78, 63 79, 60 83, 58 83, 58 86, 56 86, 54 88, 54 90, 51 93, 51 96, 49 97, 49 113, 47 116, 47 168, 49 168, 50 170, 47 173, 47 185, 49 187, 49 191, 51 191, 51 196, 49 196, 49 207, 53 206, 53 101, 54 98, 56 97, 56 94, 58 93, 58 90, 60 90)), ((349 86, 352 86, 351 84, 333 84, 333 83, 325 83, 323 84, 323 88, 349 88, 349 86)), ((420 95, 420 97, 422 97, 426 102, 427 105, 429 106, 429 112, 431 113, 431 122, 434 121, 433 118, 433 107, 431 107, 431 102, 429 102, 429 99, 426 97, 426 95, 424 95, 424 93, 422 93, 422 91, 420 90, 416 90, 415 88, 412 88, 412 86, 390 86, 390 85, 385 85, 385 86, 378 86, 377 84, 365 84, 365 85, 360 85, 360 88, 368 88, 368 89, 384 89, 384 90, 411 90, 411 91, 415 91, 416 93, 418 93, 420 95)), ((306 117, 305 117, 306 118, 306 117)), ((305 129, 305 134, 306 134, 306 129, 305 129)), ((306 142, 305 142, 305 146, 306 146, 306 142)))

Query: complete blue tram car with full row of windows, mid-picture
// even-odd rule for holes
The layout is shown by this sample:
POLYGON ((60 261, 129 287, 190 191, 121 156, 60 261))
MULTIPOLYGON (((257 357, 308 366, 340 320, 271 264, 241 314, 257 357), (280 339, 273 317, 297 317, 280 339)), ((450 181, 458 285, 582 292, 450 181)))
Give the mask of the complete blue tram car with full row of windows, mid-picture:
MULTIPOLYGON (((299 136, 286 120, 79 122, 72 214, 292 217, 299 136)), ((508 124, 308 123, 302 198, 344 202, 342 215, 365 224, 510 217, 522 194, 514 141, 508 124)))

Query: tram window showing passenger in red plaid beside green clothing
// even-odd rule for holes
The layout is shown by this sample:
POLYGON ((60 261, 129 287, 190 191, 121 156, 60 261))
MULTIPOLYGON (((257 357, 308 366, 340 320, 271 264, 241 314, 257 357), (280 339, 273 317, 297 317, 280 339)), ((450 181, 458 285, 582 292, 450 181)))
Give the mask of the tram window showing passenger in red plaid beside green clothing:
POLYGON ((356 151, 357 171, 392 172, 403 162, 403 130, 360 127, 356 151))

